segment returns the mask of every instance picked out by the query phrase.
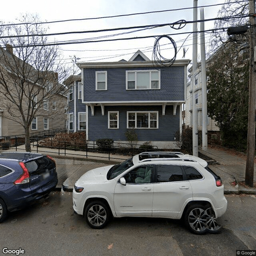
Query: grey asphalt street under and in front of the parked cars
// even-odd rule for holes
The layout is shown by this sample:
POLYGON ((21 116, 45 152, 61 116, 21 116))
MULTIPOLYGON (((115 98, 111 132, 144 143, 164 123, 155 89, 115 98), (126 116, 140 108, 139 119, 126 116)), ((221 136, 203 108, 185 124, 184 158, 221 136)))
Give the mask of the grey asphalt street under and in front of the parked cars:
POLYGON ((165 218, 115 218, 94 230, 74 214, 72 193, 52 192, 0 224, 0 255, 6 255, 2 248, 22 248, 20 255, 26 256, 235 256, 236 250, 255 250, 256 196, 226 198, 227 212, 219 218, 222 232, 198 236, 180 220, 165 218))

